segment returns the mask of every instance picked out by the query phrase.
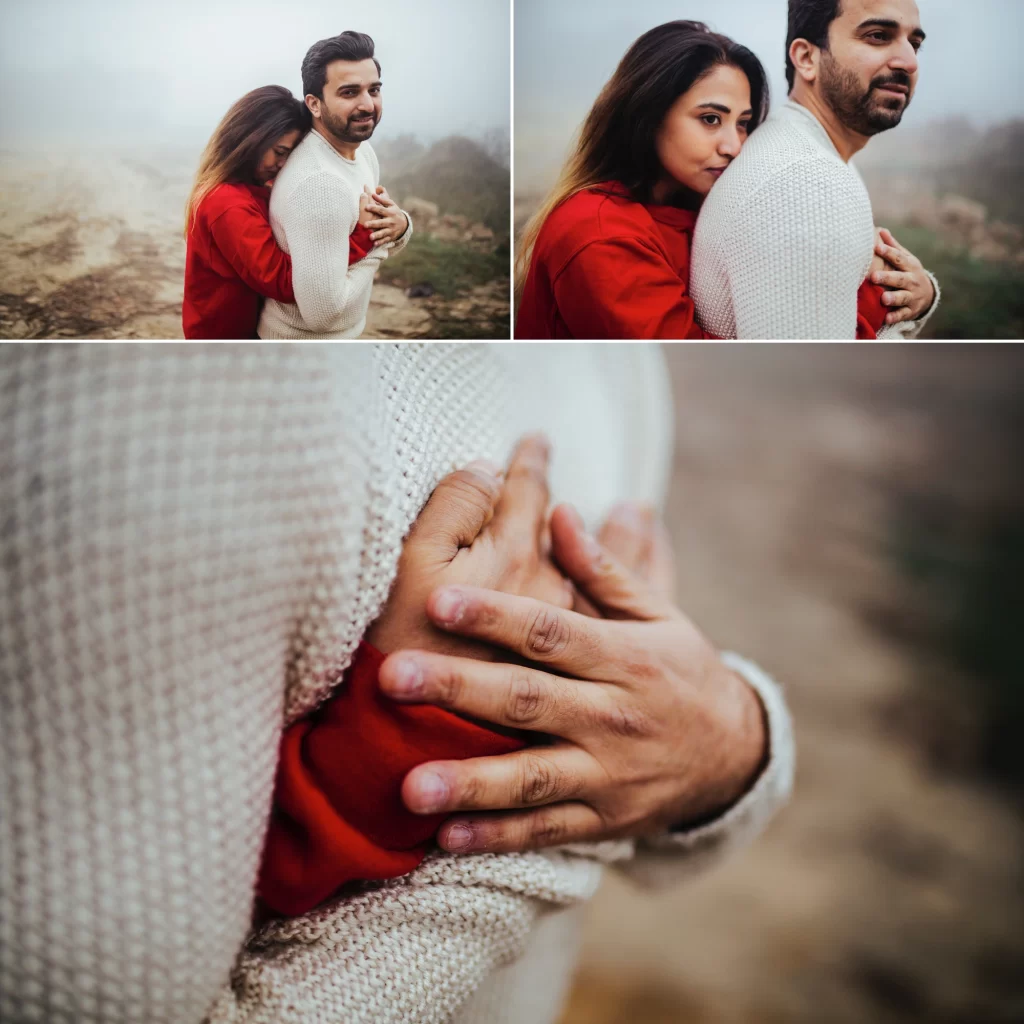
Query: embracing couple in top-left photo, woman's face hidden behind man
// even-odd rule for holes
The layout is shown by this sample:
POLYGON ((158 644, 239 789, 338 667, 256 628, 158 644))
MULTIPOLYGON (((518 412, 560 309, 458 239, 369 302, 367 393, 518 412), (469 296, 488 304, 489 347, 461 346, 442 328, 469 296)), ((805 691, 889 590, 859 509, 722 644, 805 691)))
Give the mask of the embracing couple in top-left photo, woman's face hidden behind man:
POLYGON ((369 141, 373 39, 314 43, 302 92, 247 93, 203 153, 185 212, 186 338, 357 338, 378 266, 412 237, 369 141))

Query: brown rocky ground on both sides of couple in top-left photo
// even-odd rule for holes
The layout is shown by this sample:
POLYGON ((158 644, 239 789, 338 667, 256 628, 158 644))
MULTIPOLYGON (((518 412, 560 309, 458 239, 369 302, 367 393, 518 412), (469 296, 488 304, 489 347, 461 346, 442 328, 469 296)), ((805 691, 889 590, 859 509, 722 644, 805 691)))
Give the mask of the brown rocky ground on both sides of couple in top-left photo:
MULTIPOLYGON (((0 338, 180 338, 195 154, 0 156, 0 338)), ((435 217, 444 241, 494 247, 489 228, 450 219, 435 217)), ((378 282, 366 337, 490 337, 508 292, 505 280, 410 298, 378 282)))

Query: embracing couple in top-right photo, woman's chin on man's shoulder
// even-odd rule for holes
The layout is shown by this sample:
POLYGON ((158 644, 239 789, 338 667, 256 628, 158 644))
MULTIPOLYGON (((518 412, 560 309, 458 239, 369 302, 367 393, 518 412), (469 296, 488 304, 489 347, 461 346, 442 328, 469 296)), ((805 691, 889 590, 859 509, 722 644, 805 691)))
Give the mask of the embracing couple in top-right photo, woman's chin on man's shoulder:
POLYGON ((914 0, 790 0, 788 100, 698 22, 630 47, 526 225, 517 338, 899 339, 938 284, 850 159, 895 128, 925 39, 914 0))

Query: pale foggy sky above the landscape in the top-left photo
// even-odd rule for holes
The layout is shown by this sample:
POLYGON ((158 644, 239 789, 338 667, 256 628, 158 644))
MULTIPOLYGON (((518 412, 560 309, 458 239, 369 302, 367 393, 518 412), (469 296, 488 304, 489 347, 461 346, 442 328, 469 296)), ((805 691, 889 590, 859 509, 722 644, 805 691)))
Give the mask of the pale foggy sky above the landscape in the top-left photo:
POLYGON ((380 132, 423 139, 509 127, 509 0, 0 0, 0 146, 205 142, 250 89, 297 95, 318 39, 377 45, 380 132))

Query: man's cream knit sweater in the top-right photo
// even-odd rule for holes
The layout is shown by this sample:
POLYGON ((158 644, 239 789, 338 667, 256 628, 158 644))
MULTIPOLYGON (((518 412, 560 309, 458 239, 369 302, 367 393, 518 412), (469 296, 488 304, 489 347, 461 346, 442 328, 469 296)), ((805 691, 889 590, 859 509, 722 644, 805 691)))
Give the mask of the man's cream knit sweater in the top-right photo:
MULTIPOLYGON (((719 338, 846 339, 874 252, 871 201, 806 108, 787 101, 751 135, 705 200, 693 236, 690 292, 719 338)), ((915 337, 919 321, 883 328, 915 337)))

